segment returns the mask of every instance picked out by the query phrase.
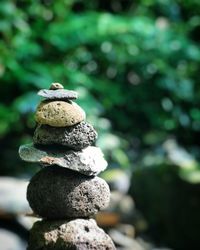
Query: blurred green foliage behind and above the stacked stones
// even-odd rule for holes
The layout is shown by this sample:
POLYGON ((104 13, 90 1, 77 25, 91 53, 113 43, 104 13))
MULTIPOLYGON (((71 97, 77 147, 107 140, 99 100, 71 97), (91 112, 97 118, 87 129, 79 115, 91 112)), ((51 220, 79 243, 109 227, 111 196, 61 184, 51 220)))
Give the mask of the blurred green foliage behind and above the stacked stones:
POLYGON ((195 0, 2 0, 1 174, 19 172, 14 151, 31 140, 36 91, 55 81, 79 92, 113 166, 131 168, 140 150, 171 135, 198 145, 199 7, 195 0))

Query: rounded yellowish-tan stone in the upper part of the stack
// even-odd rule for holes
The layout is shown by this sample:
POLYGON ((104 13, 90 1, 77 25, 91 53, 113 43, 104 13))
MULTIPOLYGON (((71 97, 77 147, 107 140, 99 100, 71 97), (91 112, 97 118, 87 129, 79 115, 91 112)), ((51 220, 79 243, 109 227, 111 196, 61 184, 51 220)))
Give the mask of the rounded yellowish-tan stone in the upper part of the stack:
POLYGON ((85 117, 84 110, 72 101, 43 101, 35 114, 38 123, 53 127, 72 126, 85 120, 85 117))

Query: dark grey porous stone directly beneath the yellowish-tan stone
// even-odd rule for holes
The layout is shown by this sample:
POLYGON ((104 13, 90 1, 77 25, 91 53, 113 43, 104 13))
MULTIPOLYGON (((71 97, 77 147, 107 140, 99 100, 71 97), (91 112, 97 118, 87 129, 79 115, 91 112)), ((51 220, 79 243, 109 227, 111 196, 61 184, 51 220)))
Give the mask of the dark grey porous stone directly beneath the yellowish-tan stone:
POLYGON ((80 150, 93 144, 97 139, 97 132, 87 122, 80 122, 74 126, 54 128, 48 125, 38 125, 33 142, 35 144, 58 144, 80 150))

